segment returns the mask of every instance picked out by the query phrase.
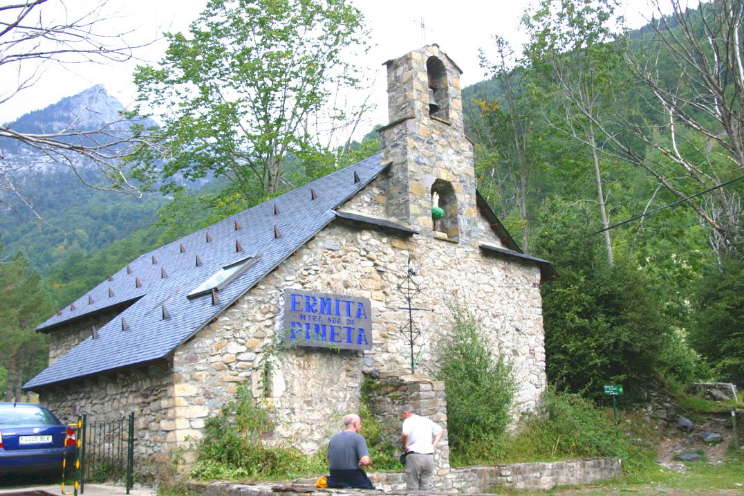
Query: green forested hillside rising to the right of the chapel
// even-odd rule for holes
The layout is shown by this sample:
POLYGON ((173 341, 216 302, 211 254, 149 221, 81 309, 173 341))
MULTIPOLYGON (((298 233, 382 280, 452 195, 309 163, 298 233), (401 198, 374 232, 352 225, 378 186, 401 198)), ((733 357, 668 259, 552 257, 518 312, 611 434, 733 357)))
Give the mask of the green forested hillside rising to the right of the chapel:
POLYGON ((618 2, 544 0, 523 57, 484 48, 493 77, 464 90, 479 188, 557 267, 542 293, 560 389, 744 381, 742 9, 623 32, 618 2))

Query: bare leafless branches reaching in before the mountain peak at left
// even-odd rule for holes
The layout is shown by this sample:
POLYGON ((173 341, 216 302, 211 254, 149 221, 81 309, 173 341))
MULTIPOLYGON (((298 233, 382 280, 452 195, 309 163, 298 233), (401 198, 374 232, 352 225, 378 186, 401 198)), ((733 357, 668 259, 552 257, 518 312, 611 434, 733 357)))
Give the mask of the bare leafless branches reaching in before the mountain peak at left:
MULTIPOLYGON (((49 64, 103 65, 131 59, 135 49, 144 45, 130 45, 126 42, 127 33, 110 31, 107 19, 99 13, 105 5, 106 0, 101 0, 80 15, 62 0, 27 0, 0 6, 0 79, 4 80, 0 104, 22 98, 24 90, 44 76, 49 64)), ((0 123, 0 193, 17 197, 33 211, 28 192, 14 179, 10 165, 4 164, 7 157, 2 143, 10 140, 66 165, 92 188, 141 197, 143 188, 135 179, 144 177, 132 174, 125 159, 150 147, 153 141, 136 125, 132 128, 123 123, 121 118, 87 129, 76 120, 48 133, 17 130, 0 123), (94 166, 95 181, 80 174, 84 163, 94 166)), ((0 202, 4 203, 1 198, 0 202)))

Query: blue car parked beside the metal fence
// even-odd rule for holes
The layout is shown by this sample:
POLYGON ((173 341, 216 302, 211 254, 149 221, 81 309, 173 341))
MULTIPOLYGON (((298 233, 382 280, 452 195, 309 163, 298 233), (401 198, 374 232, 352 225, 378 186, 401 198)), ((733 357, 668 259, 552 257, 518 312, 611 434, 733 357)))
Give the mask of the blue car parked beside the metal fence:
POLYGON ((75 431, 45 407, 0 403, 0 474, 68 470, 74 462, 75 431))

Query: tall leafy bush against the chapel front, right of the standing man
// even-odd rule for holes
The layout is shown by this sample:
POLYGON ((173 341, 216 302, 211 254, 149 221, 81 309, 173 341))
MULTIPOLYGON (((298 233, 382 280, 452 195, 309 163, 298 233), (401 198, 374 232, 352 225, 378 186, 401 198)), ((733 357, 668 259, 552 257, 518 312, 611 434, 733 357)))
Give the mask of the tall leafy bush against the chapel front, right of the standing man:
POLYGON ((442 343, 438 378, 447 392, 447 428, 452 462, 493 460, 510 423, 516 392, 512 366, 494 358, 472 315, 452 305, 452 339, 442 343))

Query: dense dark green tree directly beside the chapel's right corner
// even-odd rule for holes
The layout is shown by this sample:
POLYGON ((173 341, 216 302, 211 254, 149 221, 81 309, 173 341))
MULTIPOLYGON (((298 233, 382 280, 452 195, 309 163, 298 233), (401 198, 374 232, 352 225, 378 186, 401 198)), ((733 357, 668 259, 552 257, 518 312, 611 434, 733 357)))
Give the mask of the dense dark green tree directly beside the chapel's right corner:
POLYGON ((673 328, 655 282, 624 258, 611 267, 600 238, 586 235, 586 207, 546 201, 535 252, 560 273, 542 291, 548 380, 597 398, 603 384, 642 384, 663 368, 673 328))

